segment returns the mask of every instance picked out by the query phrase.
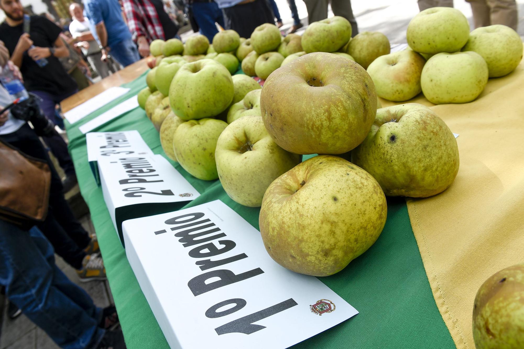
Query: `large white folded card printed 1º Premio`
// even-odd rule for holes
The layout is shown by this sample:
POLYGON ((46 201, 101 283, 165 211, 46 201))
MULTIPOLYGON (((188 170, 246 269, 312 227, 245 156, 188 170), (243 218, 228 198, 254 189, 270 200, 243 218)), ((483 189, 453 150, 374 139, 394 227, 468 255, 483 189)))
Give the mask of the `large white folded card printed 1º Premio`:
POLYGON ((126 255, 171 349, 280 349, 358 312, 278 265, 220 200, 123 224, 126 255))

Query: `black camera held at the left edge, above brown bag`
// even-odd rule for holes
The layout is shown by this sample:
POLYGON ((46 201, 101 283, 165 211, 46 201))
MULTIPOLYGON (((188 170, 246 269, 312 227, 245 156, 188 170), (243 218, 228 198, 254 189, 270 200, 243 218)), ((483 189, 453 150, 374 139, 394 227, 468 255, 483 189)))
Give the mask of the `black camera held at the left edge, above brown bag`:
POLYGON ((11 115, 17 119, 30 121, 38 136, 50 136, 54 132, 54 124, 40 111, 38 102, 40 97, 29 93, 29 97, 18 102, 12 109, 11 115))

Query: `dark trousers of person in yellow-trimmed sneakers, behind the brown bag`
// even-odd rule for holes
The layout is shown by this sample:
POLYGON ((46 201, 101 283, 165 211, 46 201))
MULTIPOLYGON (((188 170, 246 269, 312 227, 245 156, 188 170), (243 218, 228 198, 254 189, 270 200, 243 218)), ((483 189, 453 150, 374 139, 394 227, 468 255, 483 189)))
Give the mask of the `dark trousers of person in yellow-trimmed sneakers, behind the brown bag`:
POLYGON ((28 124, 20 127, 16 132, 0 135, 0 138, 27 155, 47 161, 51 169, 49 213, 46 220, 39 223, 38 227, 60 257, 73 268, 81 269, 82 259, 85 257, 83 249, 88 246, 91 237, 75 219, 69 204, 65 201, 62 181, 40 139, 28 124))

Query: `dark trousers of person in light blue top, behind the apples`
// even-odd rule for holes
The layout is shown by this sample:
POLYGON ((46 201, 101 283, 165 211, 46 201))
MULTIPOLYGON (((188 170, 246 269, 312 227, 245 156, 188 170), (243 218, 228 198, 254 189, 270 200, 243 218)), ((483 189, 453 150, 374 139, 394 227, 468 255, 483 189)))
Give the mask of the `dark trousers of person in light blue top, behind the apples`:
POLYGON ((266 0, 235 5, 222 9, 225 29, 235 30, 241 37, 249 38, 253 30, 261 24, 275 24, 275 18, 266 0))

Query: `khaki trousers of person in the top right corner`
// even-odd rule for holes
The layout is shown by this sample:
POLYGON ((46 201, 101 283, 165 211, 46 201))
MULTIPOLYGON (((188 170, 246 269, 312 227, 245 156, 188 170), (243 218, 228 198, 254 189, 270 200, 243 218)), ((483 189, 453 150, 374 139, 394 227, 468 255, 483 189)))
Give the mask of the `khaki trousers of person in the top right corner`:
POLYGON ((471 5, 475 28, 504 24, 517 30, 518 14, 515 0, 466 0, 471 5))

